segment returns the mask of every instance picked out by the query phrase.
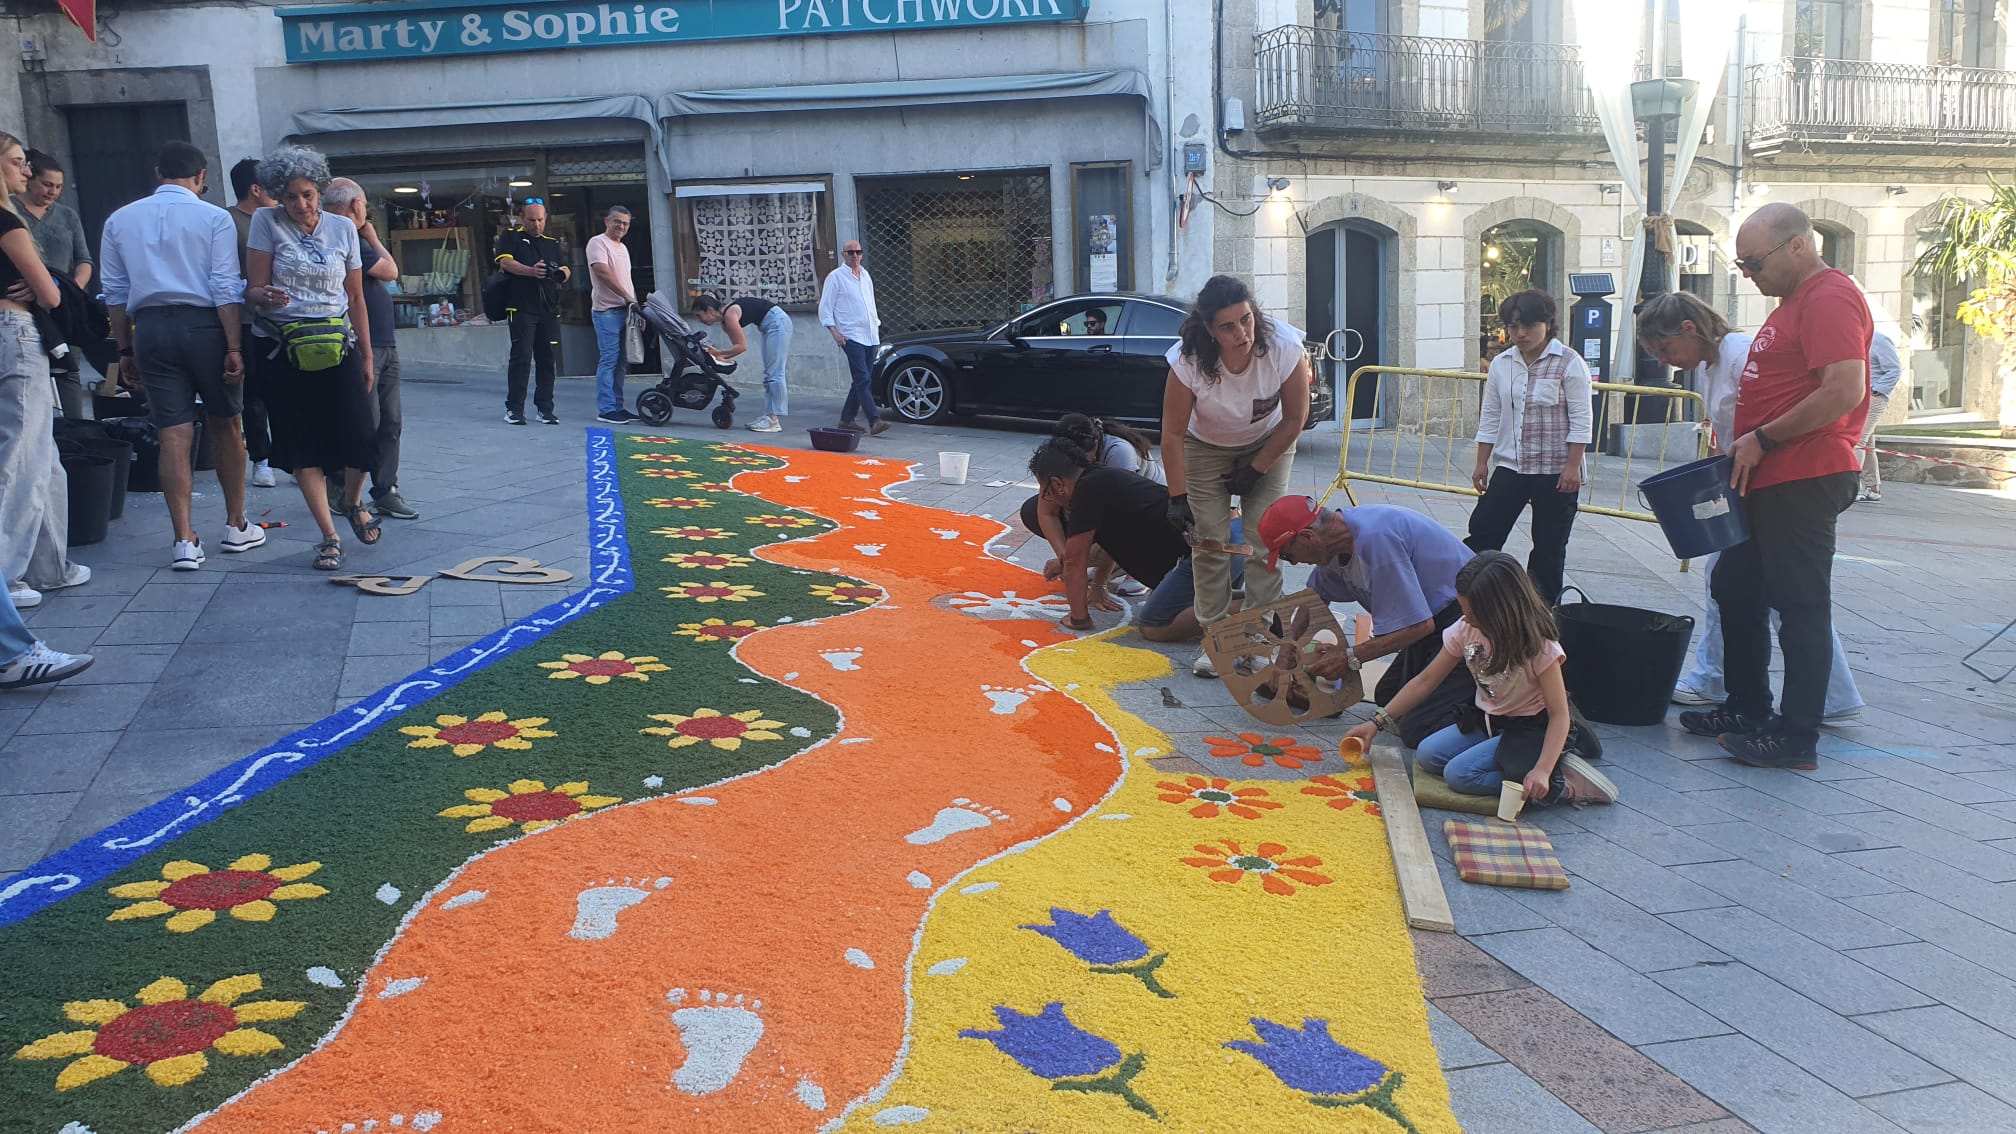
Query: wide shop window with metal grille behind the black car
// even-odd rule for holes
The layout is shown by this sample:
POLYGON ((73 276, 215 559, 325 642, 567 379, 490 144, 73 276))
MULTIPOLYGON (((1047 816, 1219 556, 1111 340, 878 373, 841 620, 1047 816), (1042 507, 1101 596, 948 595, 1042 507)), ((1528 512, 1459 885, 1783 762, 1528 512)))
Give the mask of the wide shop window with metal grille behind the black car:
POLYGON ((861 178, 855 196, 885 333, 1000 323, 1054 299, 1046 172, 861 178))

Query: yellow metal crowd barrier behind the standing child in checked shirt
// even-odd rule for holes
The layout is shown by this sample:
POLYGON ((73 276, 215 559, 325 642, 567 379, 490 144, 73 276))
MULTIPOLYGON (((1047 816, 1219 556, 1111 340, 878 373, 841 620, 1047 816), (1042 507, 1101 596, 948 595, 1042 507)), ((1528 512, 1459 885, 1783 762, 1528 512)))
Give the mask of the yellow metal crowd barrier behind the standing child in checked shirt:
MULTIPOLYGON (((1468 369, 1411 369, 1393 365, 1365 365, 1351 371, 1351 381, 1347 383, 1343 406, 1353 406, 1361 381, 1385 381, 1385 379, 1423 379, 1419 385, 1419 400, 1413 398, 1413 389, 1403 385, 1397 391, 1381 391, 1381 404, 1399 406, 1407 414, 1409 422, 1393 426, 1389 430, 1369 430, 1355 434, 1349 426, 1343 430, 1343 440, 1337 452, 1337 480, 1322 492, 1329 500, 1331 492, 1339 488, 1345 496, 1357 504, 1359 498, 1351 490, 1353 480, 1367 484, 1393 484, 1397 488, 1423 488, 1429 492, 1454 492, 1460 496, 1478 496, 1480 492, 1470 484, 1470 470, 1476 466, 1476 436, 1478 436, 1478 408, 1482 406, 1486 375, 1468 369), (1447 398, 1437 400, 1437 389, 1445 389, 1447 398), (1468 393, 1468 398, 1466 398, 1468 393), (1415 408, 1419 412, 1415 412, 1415 408), (1437 414, 1441 410, 1441 414, 1437 414), (1361 442, 1363 438, 1363 442, 1361 442), (1413 476, 1405 476, 1405 458, 1401 448, 1413 438, 1413 476), (1377 470, 1379 464, 1379 442, 1387 440, 1389 454, 1385 456, 1385 472, 1377 470), (1427 472, 1433 470, 1429 460, 1429 448, 1441 450, 1441 478, 1431 480, 1427 472), (1458 450, 1464 450, 1468 460, 1458 462, 1458 450), (1353 468, 1353 458, 1359 466, 1353 468)), ((1619 517, 1627 521, 1653 521, 1647 511, 1635 506, 1631 490, 1637 480, 1661 472, 1675 464, 1685 464, 1689 460, 1699 460, 1708 456, 1708 434, 1695 428, 1706 420, 1702 395, 1691 389, 1673 389, 1657 385, 1625 385, 1617 381, 1597 381, 1595 391, 1601 395, 1601 406, 1597 408, 1597 436, 1589 446, 1589 474, 1583 476, 1583 500, 1577 502, 1579 513, 1593 513, 1599 517, 1619 517), (1665 400, 1665 414, 1657 420, 1645 422, 1643 400, 1659 398, 1665 400), (1633 402, 1637 400, 1637 402, 1633 402), (1691 410, 1689 410, 1691 408, 1691 410), (1689 436, 1691 444, 1683 448, 1673 446, 1675 426, 1689 436), (1605 452, 1609 440, 1603 432, 1607 428, 1621 430, 1623 452, 1605 452), (1641 454, 1639 438, 1643 432, 1657 432, 1659 446, 1657 454, 1641 454), (1609 460, 1605 460, 1609 458, 1609 460), (1599 504, 1597 492, 1609 496, 1609 484, 1605 484, 1607 474, 1623 464, 1617 476, 1617 506, 1599 504), (1633 474, 1633 466, 1637 472, 1633 474), (1649 466, 1647 466, 1649 464, 1649 466)))

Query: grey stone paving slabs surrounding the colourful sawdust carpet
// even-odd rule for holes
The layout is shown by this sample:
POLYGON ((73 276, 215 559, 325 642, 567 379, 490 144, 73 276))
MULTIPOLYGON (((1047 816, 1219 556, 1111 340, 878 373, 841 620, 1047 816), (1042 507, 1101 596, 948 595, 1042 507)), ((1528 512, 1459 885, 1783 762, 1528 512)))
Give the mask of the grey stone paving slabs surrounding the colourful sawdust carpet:
MULTIPOLYGON (((429 573, 508 553, 585 571, 589 383, 560 383, 562 428, 504 426, 498 377, 405 383, 401 490, 423 519, 385 521, 373 549, 347 539, 347 569, 429 573)), ((798 446, 798 428, 835 416, 837 402, 810 398, 778 436, 689 416, 669 430, 798 446)), ((1014 523, 1038 440, 958 424, 897 428, 863 450, 921 462, 899 496, 1014 523), (935 480, 939 450, 972 454, 968 484, 935 480)), ((1308 434, 1296 484, 1314 490, 1335 464, 1337 434, 1308 434)), ((214 545, 216 480, 198 486, 214 545)), ((1470 504, 1357 496, 1456 531, 1470 504)), ((494 583, 361 599, 308 569, 314 529, 292 486, 254 488, 250 511, 290 527, 266 549, 171 573, 159 498, 135 494, 109 541, 79 549, 97 577, 30 611, 36 634, 99 664, 0 696, 0 880, 552 599, 494 583)), ((996 551, 1046 557, 1020 531, 996 551)), ((1429 813, 1458 934, 1415 940, 1466 1130, 2016 1130, 2016 680, 1960 664, 2016 617, 2012 555, 2010 494, 1897 484, 1853 508, 1835 587, 1861 720, 1831 730, 1812 775, 1738 767, 1673 724, 1601 726, 1623 803, 1538 817, 1570 890, 1466 886, 1429 813)), ((1583 517, 1568 579, 1595 601, 1704 605, 1699 571, 1679 573, 1633 521, 1583 517)), ((1218 682, 1187 674, 1195 646, 1161 650, 1175 674, 1123 702, 1214 763, 1195 741, 1250 724, 1218 682)), ((1996 670, 1994 654, 1978 662, 1996 670)), ((2016 642, 2000 650, 2012 664, 2016 642)), ((1345 726, 1308 732, 1335 751, 1345 726)), ((1331 757, 1310 775, 1339 767, 1331 757)))

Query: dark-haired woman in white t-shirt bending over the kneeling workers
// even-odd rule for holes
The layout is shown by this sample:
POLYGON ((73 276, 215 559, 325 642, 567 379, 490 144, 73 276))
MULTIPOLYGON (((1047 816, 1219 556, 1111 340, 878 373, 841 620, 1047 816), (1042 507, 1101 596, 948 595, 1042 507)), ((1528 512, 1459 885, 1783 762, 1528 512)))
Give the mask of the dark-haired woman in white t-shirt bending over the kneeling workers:
MULTIPOLYGON (((1294 442, 1308 420, 1302 331, 1264 315, 1244 280, 1212 276, 1179 335, 1161 393, 1169 523, 1228 541, 1234 496, 1260 515, 1288 488, 1294 442)), ((1200 549, 1191 569, 1198 621, 1210 632, 1232 609, 1232 561, 1200 549)), ((1278 599, 1280 573, 1256 555, 1246 565, 1246 605, 1278 599)), ((1200 654, 1191 672, 1216 676, 1210 654, 1200 654)))

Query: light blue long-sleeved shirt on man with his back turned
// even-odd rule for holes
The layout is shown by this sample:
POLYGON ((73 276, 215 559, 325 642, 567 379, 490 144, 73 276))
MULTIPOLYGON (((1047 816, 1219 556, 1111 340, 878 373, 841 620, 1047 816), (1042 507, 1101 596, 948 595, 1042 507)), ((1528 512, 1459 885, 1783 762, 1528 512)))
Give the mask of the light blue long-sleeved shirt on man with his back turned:
POLYGON ((232 214, 181 186, 105 218, 99 280, 109 307, 224 307, 244 299, 232 214))

